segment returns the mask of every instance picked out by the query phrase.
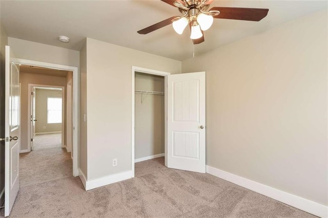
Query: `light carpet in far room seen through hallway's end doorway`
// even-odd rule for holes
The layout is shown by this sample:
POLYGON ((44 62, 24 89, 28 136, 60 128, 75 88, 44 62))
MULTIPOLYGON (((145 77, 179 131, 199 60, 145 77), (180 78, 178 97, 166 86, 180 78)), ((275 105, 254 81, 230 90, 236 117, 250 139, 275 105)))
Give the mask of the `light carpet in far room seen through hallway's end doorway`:
POLYGON ((34 150, 61 147, 61 133, 35 135, 34 150))

